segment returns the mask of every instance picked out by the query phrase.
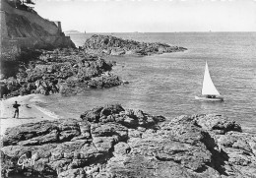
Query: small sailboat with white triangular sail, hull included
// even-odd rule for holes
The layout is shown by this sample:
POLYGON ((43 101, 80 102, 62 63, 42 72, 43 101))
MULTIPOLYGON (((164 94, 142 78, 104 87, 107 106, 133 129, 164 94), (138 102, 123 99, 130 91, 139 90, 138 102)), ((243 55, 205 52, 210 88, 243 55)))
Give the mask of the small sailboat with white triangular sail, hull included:
POLYGON ((221 96, 220 92, 218 91, 218 89, 216 89, 211 79, 207 62, 206 62, 205 75, 204 75, 204 81, 203 81, 202 96, 195 96, 195 98, 200 100, 210 100, 210 101, 224 100, 224 97, 221 96))

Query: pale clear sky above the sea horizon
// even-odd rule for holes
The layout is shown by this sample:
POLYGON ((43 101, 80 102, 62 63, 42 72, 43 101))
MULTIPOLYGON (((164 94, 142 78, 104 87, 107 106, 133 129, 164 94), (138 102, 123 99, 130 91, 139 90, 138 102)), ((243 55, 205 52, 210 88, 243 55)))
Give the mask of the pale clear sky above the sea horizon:
POLYGON ((34 0, 62 30, 256 31, 256 0, 34 0))

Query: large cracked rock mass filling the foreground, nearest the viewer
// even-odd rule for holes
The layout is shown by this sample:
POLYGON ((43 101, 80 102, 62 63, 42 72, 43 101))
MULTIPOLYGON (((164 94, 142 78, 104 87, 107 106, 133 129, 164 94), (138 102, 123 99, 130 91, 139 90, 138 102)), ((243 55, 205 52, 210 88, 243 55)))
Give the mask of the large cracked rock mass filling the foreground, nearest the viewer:
POLYGON ((106 105, 8 129, 3 177, 255 177, 256 136, 221 115, 164 121, 106 105), (19 165, 18 165, 19 164, 19 165))

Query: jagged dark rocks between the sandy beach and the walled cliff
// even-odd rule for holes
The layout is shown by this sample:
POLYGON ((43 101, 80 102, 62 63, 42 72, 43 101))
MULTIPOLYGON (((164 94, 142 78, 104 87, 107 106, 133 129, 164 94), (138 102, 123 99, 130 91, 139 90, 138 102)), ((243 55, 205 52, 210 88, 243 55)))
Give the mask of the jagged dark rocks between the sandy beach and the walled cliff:
POLYGON ((10 66, 4 66, 9 69, 6 73, 13 71, 17 74, 15 78, 1 82, 1 96, 54 92, 67 95, 88 88, 110 88, 122 84, 117 76, 109 73, 111 62, 79 49, 37 50, 24 54, 22 58, 28 61, 16 61, 16 65, 10 62, 10 66))

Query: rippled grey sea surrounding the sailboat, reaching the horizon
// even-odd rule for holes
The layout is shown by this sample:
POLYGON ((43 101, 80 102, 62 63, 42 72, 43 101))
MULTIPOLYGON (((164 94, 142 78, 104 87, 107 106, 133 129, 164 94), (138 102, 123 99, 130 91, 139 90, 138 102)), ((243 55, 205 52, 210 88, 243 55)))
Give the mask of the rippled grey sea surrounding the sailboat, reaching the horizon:
MULTIPOLYGON (((113 73, 128 85, 88 89, 73 96, 40 96, 39 104, 59 118, 80 118, 86 110, 109 103, 141 109, 171 119, 179 115, 222 114, 243 131, 256 133, 256 32, 102 33, 124 39, 163 42, 188 50, 145 57, 106 57, 113 73), (205 63, 224 102, 195 99, 200 95, 205 63)), ((67 34, 77 46, 93 33, 67 34)))

